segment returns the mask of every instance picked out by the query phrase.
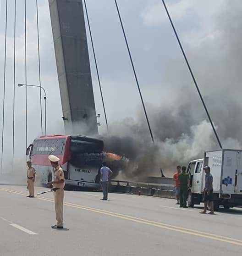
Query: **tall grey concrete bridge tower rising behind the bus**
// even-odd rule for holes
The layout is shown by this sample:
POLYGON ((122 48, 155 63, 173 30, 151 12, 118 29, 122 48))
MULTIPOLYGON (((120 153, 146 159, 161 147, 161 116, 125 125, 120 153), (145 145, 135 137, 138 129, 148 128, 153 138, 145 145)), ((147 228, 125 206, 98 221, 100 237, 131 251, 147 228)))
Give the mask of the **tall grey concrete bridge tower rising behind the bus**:
POLYGON ((98 128, 82 0, 49 0, 49 10, 66 133, 95 135, 98 128))

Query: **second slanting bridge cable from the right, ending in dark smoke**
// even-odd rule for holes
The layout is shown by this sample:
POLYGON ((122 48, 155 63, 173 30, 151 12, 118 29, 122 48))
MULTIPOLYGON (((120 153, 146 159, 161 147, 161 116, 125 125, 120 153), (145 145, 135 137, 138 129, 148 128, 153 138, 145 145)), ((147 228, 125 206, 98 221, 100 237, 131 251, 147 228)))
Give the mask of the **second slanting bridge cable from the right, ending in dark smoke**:
POLYGON ((127 46, 129 58, 130 58, 130 61, 131 61, 131 65, 132 65, 134 77, 135 77, 135 80, 136 80, 136 83, 137 83, 137 88, 138 88, 139 95, 140 95, 140 98, 141 98, 141 101, 142 101, 143 110, 144 110, 144 114, 145 114, 146 121, 147 121, 147 124, 148 124, 149 133, 150 133, 152 142, 154 143, 153 133, 152 133, 152 130, 151 130, 151 127, 150 127, 150 124, 149 124, 148 115, 147 115, 146 108, 145 108, 145 105, 144 105, 143 96, 142 96, 142 93, 141 93, 141 90, 140 90, 140 87, 139 87, 138 78, 137 78, 137 75, 136 75, 134 63, 133 63, 133 60, 132 60, 131 52, 130 52, 129 45, 128 45, 128 41, 127 41, 127 38, 126 38, 126 33, 125 33, 125 30, 124 30, 124 26, 123 26, 123 22, 122 22, 122 19, 121 19, 120 11, 119 11, 119 8, 118 8, 117 1, 116 1, 116 0, 114 0, 114 1, 115 1, 115 6, 116 6, 116 9, 117 9, 117 12, 118 12, 120 24, 121 24, 121 27, 122 27, 124 39, 125 39, 125 42, 126 42, 126 46, 127 46))

